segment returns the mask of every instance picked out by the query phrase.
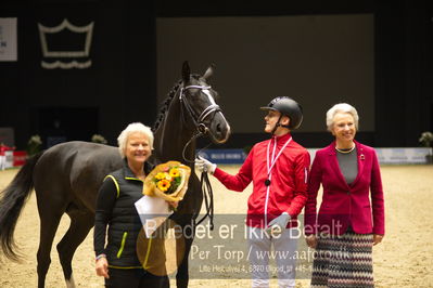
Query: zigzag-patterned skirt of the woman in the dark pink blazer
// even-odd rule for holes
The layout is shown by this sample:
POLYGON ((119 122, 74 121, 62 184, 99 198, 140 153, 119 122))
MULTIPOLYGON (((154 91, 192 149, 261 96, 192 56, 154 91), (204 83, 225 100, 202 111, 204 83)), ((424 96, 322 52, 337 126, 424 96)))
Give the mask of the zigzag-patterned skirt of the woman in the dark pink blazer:
POLYGON ((311 287, 374 287, 372 246, 372 234, 346 232, 340 236, 320 236, 311 287))

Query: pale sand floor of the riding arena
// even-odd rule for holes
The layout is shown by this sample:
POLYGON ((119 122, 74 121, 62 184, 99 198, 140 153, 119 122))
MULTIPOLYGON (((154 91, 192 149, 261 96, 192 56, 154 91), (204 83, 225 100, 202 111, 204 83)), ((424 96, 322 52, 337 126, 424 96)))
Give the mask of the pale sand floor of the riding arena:
MULTIPOLYGON (((239 169, 238 166, 221 168, 231 173, 239 169)), ((0 171, 0 189, 10 183, 16 171, 0 171)), ((385 166, 382 167, 382 178, 386 235, 383 243, 373 248, 375 287, 433 287, 433 166, 385 166)), ((215 179, 211 180, 216 214, 245 213, 251 185, 244 193, 233 193, 226 191, 215 179)), ((65 287, 55 245, 66 232, 68 221, 66 215, 62 219, 54 239, 47 287, 65 287)), ((34 193, 16 225, 15 240, 24 259, 22 263, 1 260, 0 287, 36 287, 39 218, 34 193)), ((91 231, 73 261, 78 287, 103 287, 103 279, 94 274, 92 250, 91 231)), ((307 279, 296 280, 296 287, 308 285, 307 279)), ((191 279, 190 287, 250 287, 250 280, 238 279, 235 273, 228 273, 226 279, 191 279)), ((277 287, 276 279, 271 287, 277 287)))

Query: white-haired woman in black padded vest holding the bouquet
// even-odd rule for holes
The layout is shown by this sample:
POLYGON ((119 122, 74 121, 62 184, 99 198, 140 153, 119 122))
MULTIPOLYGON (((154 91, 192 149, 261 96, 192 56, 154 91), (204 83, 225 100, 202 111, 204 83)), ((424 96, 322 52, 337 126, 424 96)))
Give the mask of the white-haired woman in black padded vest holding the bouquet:
MULTIPOLYGON (((135 202, 143 196, 145 176, 153 168, 148 162, 153 133, 149 127, 135 122, 122 131, 117 142, 125 165, 105 178, 97 200, 93 237, 97 274, 105 277, 105 287, 169 287, 167 276, 144 270, 137 256, 142 225, 135 202)), ((176 201, 169 204, 177 207, 176 201)))

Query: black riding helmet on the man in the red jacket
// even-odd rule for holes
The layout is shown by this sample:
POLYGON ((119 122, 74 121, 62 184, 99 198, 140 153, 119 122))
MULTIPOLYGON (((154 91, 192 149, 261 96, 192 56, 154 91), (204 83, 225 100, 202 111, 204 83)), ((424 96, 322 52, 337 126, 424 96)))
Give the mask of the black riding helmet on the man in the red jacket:
MULTIPOLYGON (((290 118, 290 123, 286 128, 296 129, 301 126, 303 119, 302 106, 290 97, 275 97, 269 102, 268 106, 260 107, 262 110, 276 110, 290 118)), ((280 126, 280 120, 278 120, 280 126)))

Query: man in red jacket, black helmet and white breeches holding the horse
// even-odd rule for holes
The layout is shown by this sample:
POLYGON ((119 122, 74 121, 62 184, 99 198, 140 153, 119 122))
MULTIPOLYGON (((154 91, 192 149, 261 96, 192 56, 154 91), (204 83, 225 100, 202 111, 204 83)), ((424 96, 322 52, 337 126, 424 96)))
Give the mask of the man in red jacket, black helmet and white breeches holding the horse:
POLYGON ((203 158, 195 160, 195 166, 232 191, 242 192, 253 181, 246 217, 252 286, 269 286, 268 263, 273 246, 279 286, 294 287, 297 238, 293 227, 307 200, 310 159, 290 131, 301 126, 303 113, 290 97, 276 97, 260 109, 267 112, 265 132, 271 139, 254 145, 238 174, 230 175, 203 158))

